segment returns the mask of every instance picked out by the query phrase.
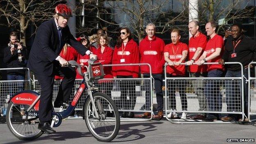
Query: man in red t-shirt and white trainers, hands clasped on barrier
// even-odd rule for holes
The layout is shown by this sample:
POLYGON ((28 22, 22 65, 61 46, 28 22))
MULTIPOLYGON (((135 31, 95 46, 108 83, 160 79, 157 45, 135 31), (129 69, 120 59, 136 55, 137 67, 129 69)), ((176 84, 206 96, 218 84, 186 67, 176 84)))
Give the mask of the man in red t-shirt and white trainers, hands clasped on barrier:
MULTIPOLYGON (((187 44, 180 42, 181 34, 180 30, 174 28, 171 30, 171 42, 165 46, 165 61, 168 63, 169 66, 166 68, 166 76, 177 78, 177 77, 184 77, 185 76, 185 65, 180 65, 181 63, 185 62, 187 57, 187 44)), ((179 94, 181 97, 181 105, 182 110, 187 110, 187 97, 185 94, 185 86, 186 82, 182 81, 173 81, 171 80, 170 83, 168 82, 168 94, 169 96, 169 108, 171 110, 176 110, 176 99, 175 99, 175 92, 176 87, 179 89, 179 94)), ((187 113, 183 112, 181 119, 186 119, 187 113)), ((168 118, 175 118, 177 117, 176 112, 171 112, 167 115, 168 118)))

